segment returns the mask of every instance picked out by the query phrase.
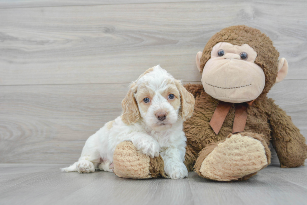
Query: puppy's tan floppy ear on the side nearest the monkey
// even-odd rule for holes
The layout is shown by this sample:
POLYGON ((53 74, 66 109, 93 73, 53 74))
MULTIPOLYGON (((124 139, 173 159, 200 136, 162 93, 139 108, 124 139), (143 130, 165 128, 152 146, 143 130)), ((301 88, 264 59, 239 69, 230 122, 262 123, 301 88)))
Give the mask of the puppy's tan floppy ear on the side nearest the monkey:
POLYGON ((185 121, 193 114, 195 99, 194 96, 181 85, 180 80, 175 80, 175 84, 180 93, 181 118, 185 121))

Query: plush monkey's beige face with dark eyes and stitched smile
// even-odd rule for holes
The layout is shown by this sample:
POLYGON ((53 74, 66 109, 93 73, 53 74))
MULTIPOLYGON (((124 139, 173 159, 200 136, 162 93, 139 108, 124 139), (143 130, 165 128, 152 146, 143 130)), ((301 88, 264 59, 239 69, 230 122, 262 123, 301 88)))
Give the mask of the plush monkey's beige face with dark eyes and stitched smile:
POLYGON ((206 93, 232 103, 255 100, 263 91, 263 69, 255 64, 257 52, 248 44, 220 42, 213 46, 201 82, 206 93))

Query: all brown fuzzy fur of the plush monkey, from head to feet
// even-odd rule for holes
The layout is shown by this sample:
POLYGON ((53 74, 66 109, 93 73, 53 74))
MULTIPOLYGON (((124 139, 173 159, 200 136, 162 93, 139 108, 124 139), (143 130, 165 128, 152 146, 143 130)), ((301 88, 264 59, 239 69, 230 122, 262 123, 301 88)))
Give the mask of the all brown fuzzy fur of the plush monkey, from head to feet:
MULTIPOLYGON (((257 52, 255 64, 260 66, 265 74, 264 89, 253 105, 247 107, 246 126, 244 132, 239 134, 249 136, 263 144, 267 164, 270 163, 271 158, 268 145, 272 142, 281 167, 299 167, 303 165, 307 157, 307 146, 304 136, 294 126, 291 117, 287 116, 285 111, 280 109, 278 105, 274 104, 274 100, 267 97, 268 91, 276 81, 278 72, 279 53, 273 46, 273 42, 255 28, 247 26, 224 28, 213 35, 206 44, 203 55, 200 58, 201 71, 211 57, 212 47, 219 42, 227 42, 239 46, 248 44, 251 46, 257 52)), ((220 132, 216 135, 209 122, 219 100, 208 95, 201 84, 187 84, 185 88, 195 97, 195 109, 192 117, 184 123, 184 131, 187 137, 184 163, 189 171, 195 170, 202 176, 202 173, 200 173, 202 162, 217 147, 217 144, 226 141, 227 136, 232 136, 230 133, 232 133, 235 107, 232 105, 220 132)), ((151 177, 165 177, 161 172, 163 160, 161 161, 160 158, 155 160, 154 163, 149 163, 148 166, 150 167, 151 177)), ((256 173, 250 173, 233 180, 246 180, 256 173)))

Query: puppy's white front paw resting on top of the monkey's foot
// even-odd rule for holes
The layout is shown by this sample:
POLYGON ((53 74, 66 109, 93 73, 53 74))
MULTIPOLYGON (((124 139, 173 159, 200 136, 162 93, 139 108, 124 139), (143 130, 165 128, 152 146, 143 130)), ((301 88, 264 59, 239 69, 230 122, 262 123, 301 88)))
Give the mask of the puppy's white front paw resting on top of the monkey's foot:
POLYGON ((159 156, 159 143, 153 139, 142 139, 141 141, 138 141, 134 146, 142 154, 150 156, 151 158, 159 156))

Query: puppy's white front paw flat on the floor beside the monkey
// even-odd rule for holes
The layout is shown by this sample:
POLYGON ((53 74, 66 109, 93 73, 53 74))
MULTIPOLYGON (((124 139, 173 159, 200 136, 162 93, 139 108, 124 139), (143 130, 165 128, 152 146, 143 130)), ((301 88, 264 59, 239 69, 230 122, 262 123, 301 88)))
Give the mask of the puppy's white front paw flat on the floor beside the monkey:
POLYGON ((164 171, 170 179, 183 179, 188 177, 188 169, 183 162, 166 164, 164 171))

